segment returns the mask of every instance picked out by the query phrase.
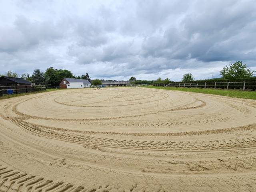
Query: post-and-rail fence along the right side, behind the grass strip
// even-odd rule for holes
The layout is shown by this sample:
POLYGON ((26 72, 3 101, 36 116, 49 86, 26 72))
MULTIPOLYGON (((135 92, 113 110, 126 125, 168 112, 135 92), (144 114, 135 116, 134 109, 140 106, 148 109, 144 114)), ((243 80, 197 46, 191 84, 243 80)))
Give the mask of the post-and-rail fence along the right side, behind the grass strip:
POLYGON ((226 89, 256 89, 256 82, 196 82, 196 83, 154 83, 152 86, 195 87, 195 88, 226 88, 226 89))

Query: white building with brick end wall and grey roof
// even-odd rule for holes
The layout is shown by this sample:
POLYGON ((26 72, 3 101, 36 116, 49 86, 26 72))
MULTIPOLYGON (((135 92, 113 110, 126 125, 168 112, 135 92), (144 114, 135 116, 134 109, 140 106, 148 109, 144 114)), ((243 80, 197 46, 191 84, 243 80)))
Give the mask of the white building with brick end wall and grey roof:
POLYGON ((75 79, 75 78, 64 78, 60 82, 60 88, 62 89, 74 89, 74 88, 87 88, 91 86, 91 82, 87 79, 75 79))

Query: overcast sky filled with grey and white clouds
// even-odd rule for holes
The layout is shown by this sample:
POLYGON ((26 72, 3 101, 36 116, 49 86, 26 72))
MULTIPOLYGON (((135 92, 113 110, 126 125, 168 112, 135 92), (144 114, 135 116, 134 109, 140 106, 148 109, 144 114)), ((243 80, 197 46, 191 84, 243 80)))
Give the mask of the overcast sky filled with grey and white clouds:
POLYGON ((206 79, 236 60, 256 70, 256 0, 0 0, 0 74, 206 79))

